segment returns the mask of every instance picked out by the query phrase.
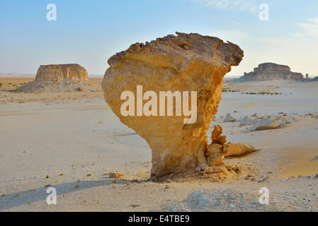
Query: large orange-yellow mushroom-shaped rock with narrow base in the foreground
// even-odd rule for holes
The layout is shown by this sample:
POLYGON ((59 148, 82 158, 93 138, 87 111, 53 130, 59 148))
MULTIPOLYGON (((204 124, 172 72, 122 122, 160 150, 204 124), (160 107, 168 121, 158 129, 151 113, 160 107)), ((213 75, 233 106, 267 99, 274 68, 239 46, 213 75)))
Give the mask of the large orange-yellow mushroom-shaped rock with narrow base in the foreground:
MULTIPOLYGON (((231 71, 231 66, 239 65, 244 56, 239 46, 217 37, 179 32, 176 35, 146 44, 132 44, 126 51, 110 57, 110 68, 102 85, 106 102, 120 121, 134 129, 152 149, 152 175, 156 177, 185 172, 208 163, 206 133, 221 100, 223 77, 231 71), (185 91, 189 93, 188 102, 193 98, 190 93, 195 91, 196 121, 184 120, 188 116, 184 109, 181 116, 142 114, 142 105, 147 106, 149 96, 143 96, 141 102, 135 101, 130 109, 135 114, 124 116, 120 112, 125 102, 121 100, 121 94, 130 91, 135 97, 142 97, 140 90, 137 92, 137 86, 141 85, 143 92, 153 91, 152 94, 158 97, 162 91, 185 91)), ((159 110, 159 100, 152 103, 159 110)), ((168 104, 169 100, 164 106, 168 104)), ((176 111, 174 107, 174 113, 176 111)))

